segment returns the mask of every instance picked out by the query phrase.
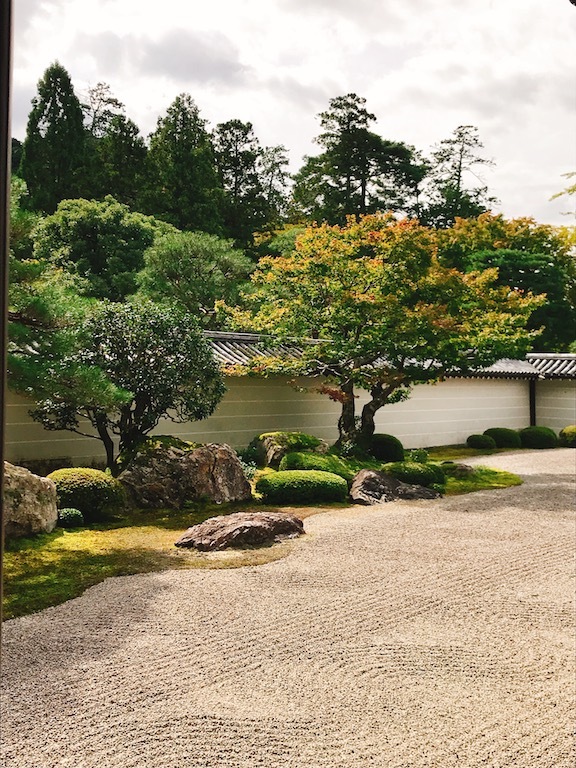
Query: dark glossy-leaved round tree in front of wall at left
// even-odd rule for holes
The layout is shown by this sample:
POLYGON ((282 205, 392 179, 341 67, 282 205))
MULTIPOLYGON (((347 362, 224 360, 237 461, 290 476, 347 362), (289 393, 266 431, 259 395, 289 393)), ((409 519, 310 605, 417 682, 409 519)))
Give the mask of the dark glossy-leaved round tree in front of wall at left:
POLYGON ((102 304, 83 325, 76 350, 72 363, 91 372, 101 386, 86 399, 84 390, 77 393, 67 386, 63 371, 32 415, 47 429, 80 434, 79 418, 86 418, 113 472, 118 466, 112 435, 119 436, 121 452, 131 450, 162 417, 177 423, 206 418, 225 391, 195 319, 176 307, 102 304))

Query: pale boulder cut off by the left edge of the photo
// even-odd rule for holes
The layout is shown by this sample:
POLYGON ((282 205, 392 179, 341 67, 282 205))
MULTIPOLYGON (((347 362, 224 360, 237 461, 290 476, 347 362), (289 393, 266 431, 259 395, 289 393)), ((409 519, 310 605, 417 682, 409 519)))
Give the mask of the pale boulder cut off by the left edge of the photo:
POLYGON ((7 538, 50 533, 58 522, 56 486, 47 477, 4 462, 4 533, 7 538))

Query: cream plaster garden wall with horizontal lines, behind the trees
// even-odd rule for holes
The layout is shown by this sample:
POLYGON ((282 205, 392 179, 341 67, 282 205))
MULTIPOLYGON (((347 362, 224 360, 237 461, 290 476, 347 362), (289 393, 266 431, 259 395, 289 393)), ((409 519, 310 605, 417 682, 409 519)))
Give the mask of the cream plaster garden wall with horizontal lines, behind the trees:
MULTIPOLYGON (((299 390, 280 378, 228 378, 228 391, 209 419, 189 424, 165 420, 156 433, 197 442, 224 442, 236 448, 246 446, 261 432, 275 430, 309 432, 333 442, 338 434, 339 404, 314 391, 317 381, 297 383, 299 390)), ((528 387, 528 381, 513 379, 450 379, 421 385, 409 400, 382 408, 376 428, 396 435, 407 448, 463 443, 469 434, 493 426, 518 429, 529 424, 528 387)), ((358 398, 358 409, 366 400, 366 394, 358 398)), ((8 461, 67 458, 76 465, 90 465, 104 460, 98 440, 70 432, 48 432, 30 419, 30 407, 29 401, 9 394, 8 461)), ((570 413, 568 406, 564 411, 563 406, 546 407, 557 409, 555 418, 563 422, 561 426, 575 423, 574 416, 564 420, 564 414, 570 413)), ((545 420, 540 423, 553 426, 545 420)))

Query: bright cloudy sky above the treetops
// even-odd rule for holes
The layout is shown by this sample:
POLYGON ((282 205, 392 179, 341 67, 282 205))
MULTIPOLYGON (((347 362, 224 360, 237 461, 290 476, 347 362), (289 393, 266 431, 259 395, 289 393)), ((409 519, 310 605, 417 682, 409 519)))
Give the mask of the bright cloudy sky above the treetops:
POLYGON ((475 125, 506 216, 569 223, 549 198, 576 170, 576 6, 570 0, 13 0, 13 135, 58 60, 81 95, 106 82, 148 135, 189 93, 209 127, 250 121, 291 168, 317 114, 363 96, 384 138, 425 153, 475 125))

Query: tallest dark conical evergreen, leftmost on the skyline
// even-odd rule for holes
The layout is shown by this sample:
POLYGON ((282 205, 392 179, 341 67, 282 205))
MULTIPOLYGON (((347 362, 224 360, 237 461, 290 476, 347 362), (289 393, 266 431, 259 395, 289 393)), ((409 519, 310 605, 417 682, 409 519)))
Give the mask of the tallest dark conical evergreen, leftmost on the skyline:
POLYGON ((22 148, 21 175, 34 209, 52 213, 60 200, 81 194, 86 153, 82 106, 55 62, 38 83, 22 148))

